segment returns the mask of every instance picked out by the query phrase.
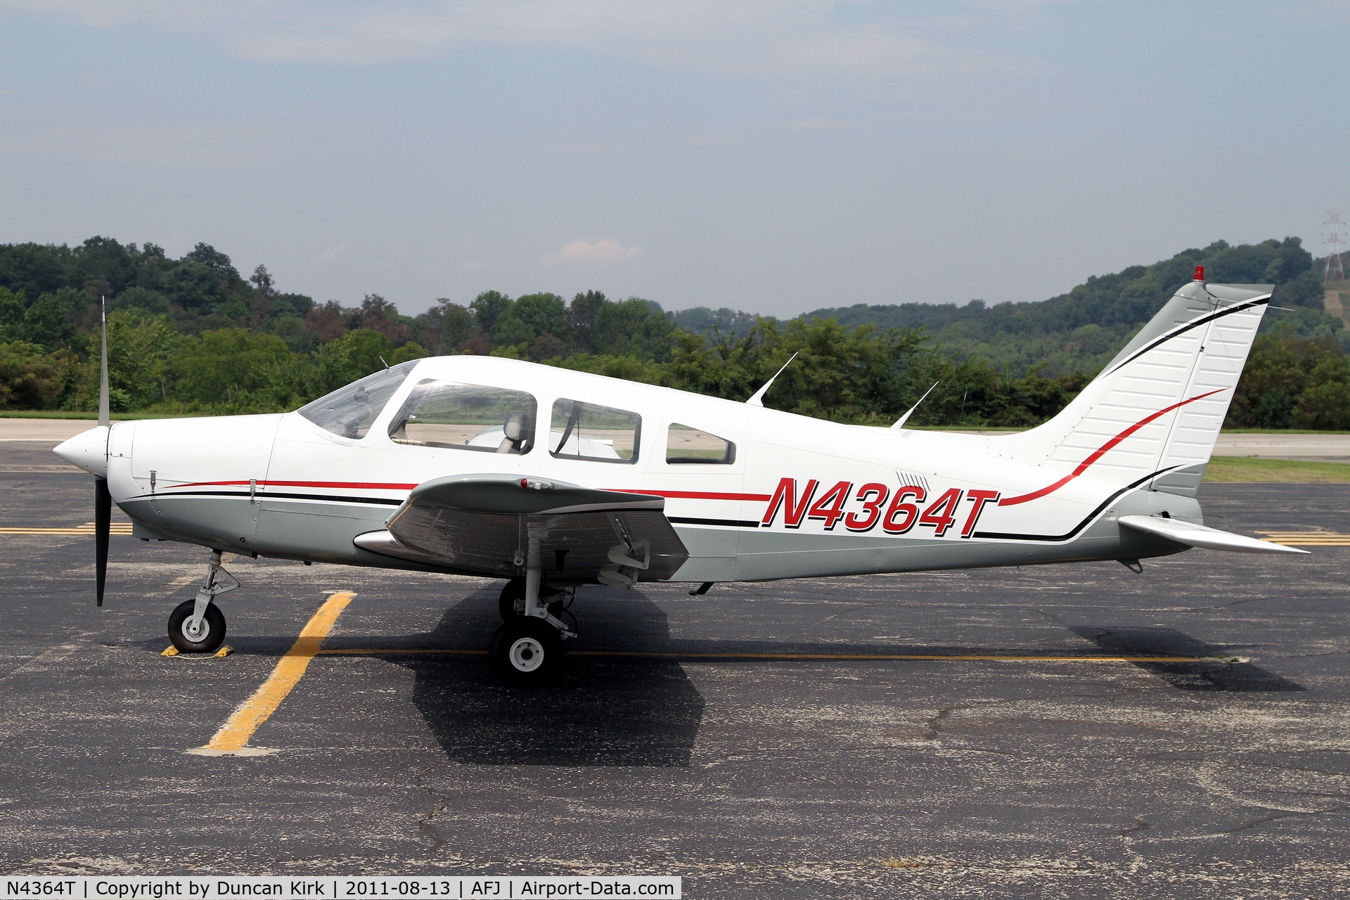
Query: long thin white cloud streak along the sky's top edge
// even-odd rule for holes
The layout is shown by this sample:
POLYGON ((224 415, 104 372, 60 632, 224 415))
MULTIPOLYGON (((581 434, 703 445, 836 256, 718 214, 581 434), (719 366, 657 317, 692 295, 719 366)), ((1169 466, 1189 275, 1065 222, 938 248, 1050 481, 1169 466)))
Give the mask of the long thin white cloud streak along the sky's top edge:
POLYGON ((910 77, 1023 63, 960 47, 964 28, 1040 0, 967 0, 941 19, 842 0, 0 0, 0 13, 189 34, 251 59, 381 63, 464 46, 564 49, 666 69, 788 77, 910 77))

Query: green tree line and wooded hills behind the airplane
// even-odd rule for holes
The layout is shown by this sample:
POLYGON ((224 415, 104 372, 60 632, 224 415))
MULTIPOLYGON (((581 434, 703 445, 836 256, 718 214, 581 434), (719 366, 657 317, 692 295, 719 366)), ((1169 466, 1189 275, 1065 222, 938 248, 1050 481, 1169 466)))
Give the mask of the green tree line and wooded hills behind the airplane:
MULTIPOLYGON (((919 312, 929 320, 910 309, 918 305, 868 308, 900 310, 888 320, 836 308, 784 322, 732 309, 667 313, 652 301, 614 301, 594 290, 571 300, 489 290, 468 304, 441 298, 404 316, 378 294, 347 308, 279 291, 265 266, 244 278, 208 244, 180 259, 154 244, 107 237, 77 247, 8 244, 0 246, 0 407, 96 406, 99 298, 105 297, 116 412, 281 412, 385 364, 451 354, 528 359, 745 399, 798 354, 770 390, 768 406, 890 424, 937 383, 911 418, 915 425, 1025 426, 1057 413, 1096 367, 1014 366, 959 341, 933 340, 938 322, 932 317, 975 322, 986 337, 1060 340, 1056 348, 1077 363, 1100 366, 1189 278, 1188 266, 1203 264, 1193 260, 1210 260, 1216 281, 1219 273, 1226 281, 1256 281, 1250 275, 1264 266, 1257 274, 1278 281, 1277 300, 1307 313, 1258 341, 1230 424, 1350 428, 1339 332, 1318 318, 1332 317, 1318 309, 1320 282, 1310 287, 1311 258, 1304 256, 1297 239, 1247 248, 1220 242, 1089 279, 1044 304, 1004 304, 980 314, 925 305, 919 312), (1094 332, 1102 347, 1096 356, 1064 348, 1064 335, 1081 344, 1084 329, 1102 332, 1094 332)), ((938 328, 938 336, 949 328, 938 328)))

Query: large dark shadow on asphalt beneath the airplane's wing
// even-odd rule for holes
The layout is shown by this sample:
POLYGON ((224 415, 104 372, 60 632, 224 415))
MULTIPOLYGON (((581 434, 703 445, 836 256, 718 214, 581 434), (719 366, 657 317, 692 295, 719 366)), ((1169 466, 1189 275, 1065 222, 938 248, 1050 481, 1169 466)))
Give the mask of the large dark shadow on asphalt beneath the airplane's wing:
MULTIPOLYGON (((602 613, 634 644, 668 640, 651 600, 633 591, 621 607, 587 614, 579 603, 582 634, 602 613)), ((487 646, 500 625, 497 591, 478 591, 423 637, 487 646)), ((529 690, 500 684, 482 656, 386 658, 416 673, 413 704, 446 756, 468 765, 686 766, 703 718, 703 698, 674 660, 574 656, 556 685, 529 690)))

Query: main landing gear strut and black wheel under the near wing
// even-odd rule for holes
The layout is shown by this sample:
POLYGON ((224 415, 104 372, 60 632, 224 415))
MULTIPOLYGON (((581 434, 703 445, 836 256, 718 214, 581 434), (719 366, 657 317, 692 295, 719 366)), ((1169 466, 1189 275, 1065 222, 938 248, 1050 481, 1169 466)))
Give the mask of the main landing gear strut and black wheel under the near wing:
POLYGON ((541 584, 544 525, 529 522, 525 528, 529 532, 525 578, 513 579, 502 588, 498 600, 502 626, 493 636, 487 658, 497 677, 506 684, 536 687, 554 680, 567 652, 566 641, 575 638, 576 631, 575 619, 568 627, 559 618, 566 614, 563 602, 549 602, 560 591, 541 584))

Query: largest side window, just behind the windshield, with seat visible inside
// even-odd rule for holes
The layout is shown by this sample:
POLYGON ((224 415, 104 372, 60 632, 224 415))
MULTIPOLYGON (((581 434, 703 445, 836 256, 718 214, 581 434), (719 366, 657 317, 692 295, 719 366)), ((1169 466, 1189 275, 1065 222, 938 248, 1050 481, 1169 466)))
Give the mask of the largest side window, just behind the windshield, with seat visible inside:
POLYGON ((413 447, 528 453, 536 409, 524 391, 427 379, 394 416, 389 437, 413 447))

